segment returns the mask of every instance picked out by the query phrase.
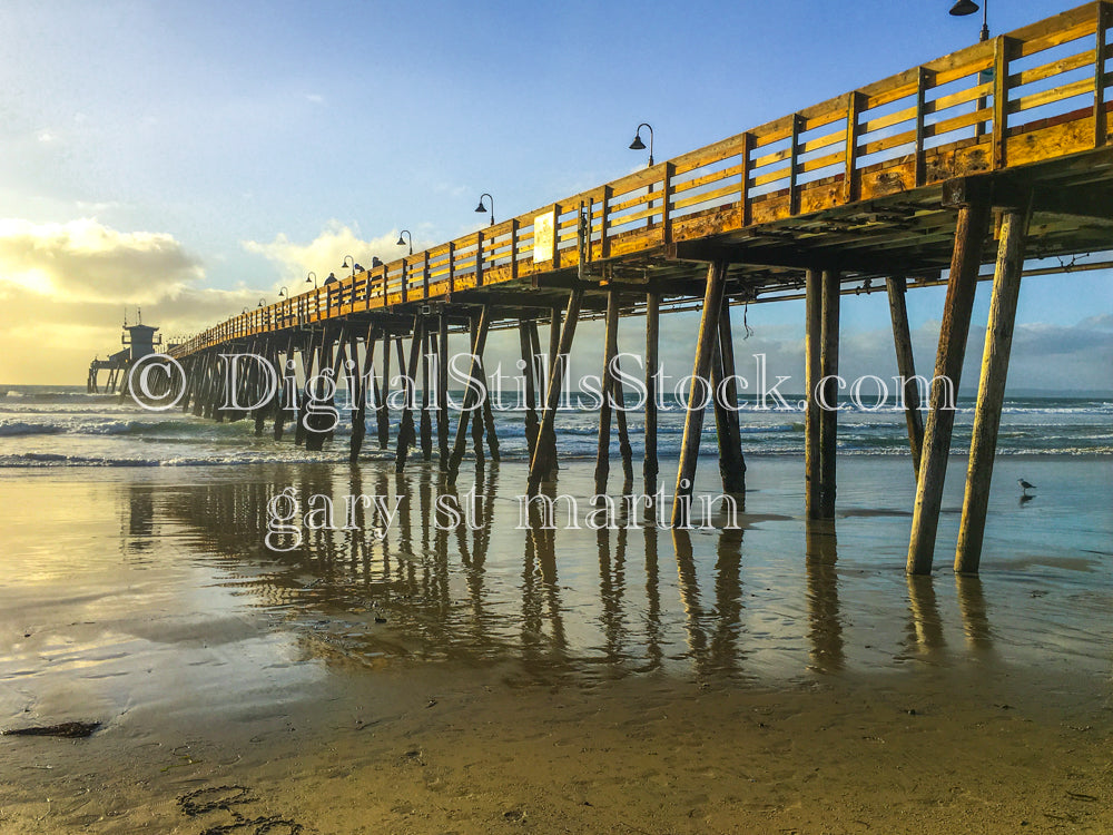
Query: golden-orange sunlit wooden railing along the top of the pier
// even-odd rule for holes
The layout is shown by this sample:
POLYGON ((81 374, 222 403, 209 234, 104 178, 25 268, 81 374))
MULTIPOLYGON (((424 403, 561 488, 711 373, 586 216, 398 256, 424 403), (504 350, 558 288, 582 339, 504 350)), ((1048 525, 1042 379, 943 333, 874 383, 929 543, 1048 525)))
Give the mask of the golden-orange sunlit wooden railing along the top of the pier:
MULTIPOLYGON (((534 212, 235 316, 174 350, 454 294, 1101 147, 1113 4, 1091 2, 534 212), (550 233, 551 229, 551 233, 550 233)), ((529 292, 522 287, 520 292, 529 292)))

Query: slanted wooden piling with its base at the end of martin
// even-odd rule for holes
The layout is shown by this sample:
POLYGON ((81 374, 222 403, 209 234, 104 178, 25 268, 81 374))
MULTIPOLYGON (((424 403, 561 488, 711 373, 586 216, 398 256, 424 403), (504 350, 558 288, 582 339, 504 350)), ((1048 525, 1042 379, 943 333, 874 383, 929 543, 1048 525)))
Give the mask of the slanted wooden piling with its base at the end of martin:
POLYGON ((690 523, 689 505, 696 483, 696 465, 699 462, 700 432, 703 429, 703 409, 696 407, 707 396, 711 358, 718 341, 719 315, 727 283, 727 263, 711 262, 707 268, 707 287, 703 292, 703 315, 700 318, 699 336, 696 341, 696 360, 692 367, 691 387, 688 392, 688 410, 684 413, 684 432, 680 444, 680 464, 677 468, 677 487, 672 499, 672 527, 683 528, 690 523), (700 400, 697 401, 697 397, 700 400))

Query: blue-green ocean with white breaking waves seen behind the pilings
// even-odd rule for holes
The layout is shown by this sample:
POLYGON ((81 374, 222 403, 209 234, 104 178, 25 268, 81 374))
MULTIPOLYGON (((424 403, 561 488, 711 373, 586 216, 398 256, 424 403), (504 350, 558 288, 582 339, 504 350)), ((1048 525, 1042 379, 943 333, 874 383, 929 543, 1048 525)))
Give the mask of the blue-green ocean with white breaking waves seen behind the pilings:
MULTIPOLYGON (((250 421, 216 423, 180 411, 151 412, 117 395, 86 394, 82 386, 0 386, 0 468, 10 466, 205 466, 243 463, 309 463, 346 461, 351 424, 342 412, 331 444, 319 453, 282 443, 268 433, 254 435, 250 421)), ((455 396, 462 399, 461 393, 455 396)), ((341 393, 343 402, 344 393, 341 393)), ((747 455, 800 455, 804 415, 788 395, 789 409, 757 410, 740 400, 742 443, 747 455)), ((633 397, 628 395, 628 403, 633 397)), ((868 404, 867 404, 868 405, 868 404)), ((974 403, 957 402, 953 453, 964 454, 969 441, 974 403)), ((843 401, 839 406, 839 453, 845 455, 907 455, 902 411, 886 406, 866 411, 843 401)), ((396 436, 398 412, 392 413, 391 438, 396 436)), ((641 412, 630 411, 631 444, 641 455, 641 412)), ((679 454, 683 406, 664 401, 660 412, 658 449, 662 459, 679 454)), ((523 413, 495 413, 500 451, 508 460, 526 458, 523 413)), ((455 415, 453 415, 453 419, 455 415)), ((374 419, 368 419, 373 428, 374 419)), ((269 424, 268 424, 269 429, 269 424)), ((584 409, 561 411, 558 421, 560 454, 564 460, 593 459, 598 413, 584 409)), ((612 453, 618 454, 612 429, 612 453)), ((702 446, 713 454, 715 420, 703 422, 702 446)), ((374 439, 364 444, 368 460, 393 454, 378 450, 374 439)), ((1008 397, 997 441, 998 455, 1113 455, 1113 400, 1109 397, 1008 397)))

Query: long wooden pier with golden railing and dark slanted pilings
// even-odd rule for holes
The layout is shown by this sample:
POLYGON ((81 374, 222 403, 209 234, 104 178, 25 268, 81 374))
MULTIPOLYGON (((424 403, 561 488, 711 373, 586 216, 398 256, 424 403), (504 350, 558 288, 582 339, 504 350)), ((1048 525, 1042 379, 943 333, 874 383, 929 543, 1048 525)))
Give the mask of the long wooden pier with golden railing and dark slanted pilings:
MULTIPOLYGON (((526 361, 528 487, 533 492, 558 468, 555 406, 567 371, 561 358, 582 316, 605 318, 603 391, 620 399, 621 385, 608 364, 619 352, 620 318, 644 316, 646 382, 652 392, 659 315, 701 311, 693 374, 716 385, 733 374, 730 305, 802 293, 807 515, 833 519, 837 412, 821 409, 817 394, 828 403, 835 400, 834 383, 820 386, 820 381, 838 373, 841 298, 887 287, 898 367, 912 376, 905 293, 938 284, 940 271, 949 267, 936 379, 923 421, 915 397, 908 397, 917 488, 907 568, 928 573, 954 421, 944 406, 958 389, 976 283, 988 277, 979 276, 979 268, 995 263, 955 561, 956 571, 974 573, 1025 253, 1047 257, 1113 248, 1111 22, 1113 4, 1086 3, 471 235, 234 316, 170 350, 186 372, 183 405, 217 420, 246 416, 219 409, 227 395, 220 354, 256 353, 268 357, 279 375, 295 370, 303 381, 322 372, 333 380, 358 380, 374 371, 382 381, 376 440, 385 448, 391 442, 386 389, 396 361, 422 392, 420 418, 406 409, 394 439, 396 469, 403 470, 412 446, 420 446, 425 460, 435 450, 451 483, 467 454, 469 428, 477 465, 486 458, 496 461, 499 445, 490 404, 479 403, 474 390, 465 406, 476 407, 457 413, 451 438, 443 362, 450 334, 467 335, 476 355, 472 371, 480 375, 487 334, 516 327, 526 361), (548 380, 534 364, 542 355, 539 325, 549 335, 548 380), (431 354, 442 361, 432 376, 431 354), (424 407, 430 403, 436 409, 424 407)), ((245 370, 239 394, 249 400, 264 382, 260 369, 245 370)), ((327 396, 324 390, 318 394, 327 396)), ((674 482, 674 524, 683 521, 683 500, 695 482, 703 410, 693 404, 702 397, 701 385, 693 384, 674 482)), ((288 420, 295 442, 321 449, 327 433, 307 412, 312 403, 306 401, 296 385, 280 386, 273 401, 254 410, 256 431, 269 420, 274 436, 282 439, 288 420)), ((365 407, 353 414, 352 461, 358 460, 367 418, 365 407)), ((626 489, 633 479, 626 414, 604 403, 599 492, 608 488, 612 418, 626 489)), ((716 420, 723 490, 743 492, 738 414, 717 409, 716 420)), ((649 406, 646 493, 657 490, 656 431, 657 414, 649 406)))

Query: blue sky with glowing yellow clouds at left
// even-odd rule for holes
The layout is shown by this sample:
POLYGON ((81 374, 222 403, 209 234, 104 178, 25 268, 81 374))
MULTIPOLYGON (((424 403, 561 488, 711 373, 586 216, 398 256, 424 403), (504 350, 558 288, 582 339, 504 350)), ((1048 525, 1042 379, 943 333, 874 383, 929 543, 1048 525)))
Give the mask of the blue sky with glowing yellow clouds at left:
MULTIPOLYGON (((949 4, 6 0, 0 384, 82 384, 137 307, 191 334, 345 255, 393 261, 402 228, 415 249, 473 232, 481 193, 503 219, 623 176, 639 122, 661 161, 973 43, 949 4)), ((989 27, 1070 6, 993 3, 989 27)), ((908 306, 927 371, 943 291, 908 306)), ((964 389, 987 308, 983 285, 964 389)), ((736 352, 802 380, 802 318, 756 305, 736 352)), ((843 328, 845 376, 896 373, 884 294, 845 299, 843 328)), ((693 314, 662 332, 679 376, 693 314)), ((640 353, 634 323, 621 338, 640 353)), ((1009 389, 1113 392, 1113 274, 1024 281, 1009 389)))

